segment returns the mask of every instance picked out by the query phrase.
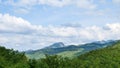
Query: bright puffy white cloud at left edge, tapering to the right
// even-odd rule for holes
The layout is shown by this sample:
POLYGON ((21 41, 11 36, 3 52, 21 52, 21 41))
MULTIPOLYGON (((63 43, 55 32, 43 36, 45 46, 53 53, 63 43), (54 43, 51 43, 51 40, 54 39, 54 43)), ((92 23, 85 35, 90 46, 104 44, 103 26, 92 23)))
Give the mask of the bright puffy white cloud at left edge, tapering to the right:
POLYGON ((0 14, 0 32, 29 32, 37 28, 32 26, 28 21, 15 16, 10 16, 9 14, 0 14))

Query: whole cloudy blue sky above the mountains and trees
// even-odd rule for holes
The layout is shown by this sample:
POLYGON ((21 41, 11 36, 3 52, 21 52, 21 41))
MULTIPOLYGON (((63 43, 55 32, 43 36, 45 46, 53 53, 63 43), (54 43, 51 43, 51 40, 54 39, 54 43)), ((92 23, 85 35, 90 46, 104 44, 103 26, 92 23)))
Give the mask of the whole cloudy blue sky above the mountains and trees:
POLYGON ((120 0, 0 0, 0 19, 1 45, 17 50, 119 39, 120 0))

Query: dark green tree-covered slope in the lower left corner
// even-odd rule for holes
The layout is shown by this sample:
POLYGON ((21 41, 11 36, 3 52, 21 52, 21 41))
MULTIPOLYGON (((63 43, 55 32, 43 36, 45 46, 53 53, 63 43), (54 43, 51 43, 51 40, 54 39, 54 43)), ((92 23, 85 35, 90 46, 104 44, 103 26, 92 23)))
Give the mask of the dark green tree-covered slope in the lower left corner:
POLYGON ((27 62, 24 53, 0 47, 0 68, 28 68, 27 62))

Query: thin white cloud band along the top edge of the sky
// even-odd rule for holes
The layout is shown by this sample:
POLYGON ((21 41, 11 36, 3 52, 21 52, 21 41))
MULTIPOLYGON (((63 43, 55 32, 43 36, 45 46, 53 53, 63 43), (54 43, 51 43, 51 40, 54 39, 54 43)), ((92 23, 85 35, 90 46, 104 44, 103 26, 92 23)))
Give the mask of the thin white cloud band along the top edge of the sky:
POLYGON ((6 5, 13 5, 14 7, 32 7, 34 5, 48 5, 52 7, 64 7, 74 5, 84 9, 94 9, 96 5, 92 0, 6 0, 3 2, 6 5))

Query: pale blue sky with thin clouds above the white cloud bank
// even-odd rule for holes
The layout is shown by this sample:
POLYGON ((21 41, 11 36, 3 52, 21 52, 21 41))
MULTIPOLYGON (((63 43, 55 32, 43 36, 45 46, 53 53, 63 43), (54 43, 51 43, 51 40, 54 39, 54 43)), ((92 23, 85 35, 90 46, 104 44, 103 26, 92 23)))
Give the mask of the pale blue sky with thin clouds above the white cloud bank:
MULTIPOLYGON (((31 4, 32 1, 30 2, 29 0, 29 2, 27 3, 26 0, 25 2, 24 0, 22 0, 22 3, 19 0, 1 1, 1 13, 9 13, 13 16, 22 17, 23 19, 31 22, 32 24, 40 24, 46 26, 48 24, 61 25, 64 23, 77 22, 81 24, 84 23, 83 25, 103 25, 104 23, 120 21, 119 0, 85 0, 86 3, 90 2, 90 5, 86 6, 89 3, 85 3, 81 7, 71 3, 66 3, 66 5, 63 6, 52 5, 49 0, 48 3, 37 4, 35 2, 35 4, 33 5, 31 4), (13 3, 15 3, 15 5, 12 4, 12 1, 13 3), (19 2, 20 5, 16 5, 19 2), (91 9, 89 6, 95 6, 95 8, 91 9)), ((47 2, 47 0, 43 1, 47 2)), ((56 1, 53 2, 53 4, 56 3, 56 1)), ((82 0, 76 0, 76 2, 77 1, 81 2, 82 0)))

